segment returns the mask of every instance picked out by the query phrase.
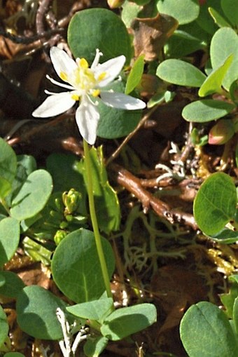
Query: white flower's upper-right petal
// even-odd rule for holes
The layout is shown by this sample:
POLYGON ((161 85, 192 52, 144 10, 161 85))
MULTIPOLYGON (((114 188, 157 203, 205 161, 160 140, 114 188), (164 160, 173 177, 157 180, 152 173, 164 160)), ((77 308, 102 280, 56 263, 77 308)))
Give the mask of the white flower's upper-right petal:
POLYGON ((94 69, 94 74, 96 79, 98 79, 98 77, 102 73, 106 73, 106 76, 104 79, 102 79, 102 81, 99 82, 97 86, 99 88, 105 87, 109 83, 111 83, 114 79, 116 79, 120 71, 123 69, 124 63, 125 63, 125 56, 121 55, 102 63, 102 65, 98 65, 94 69))

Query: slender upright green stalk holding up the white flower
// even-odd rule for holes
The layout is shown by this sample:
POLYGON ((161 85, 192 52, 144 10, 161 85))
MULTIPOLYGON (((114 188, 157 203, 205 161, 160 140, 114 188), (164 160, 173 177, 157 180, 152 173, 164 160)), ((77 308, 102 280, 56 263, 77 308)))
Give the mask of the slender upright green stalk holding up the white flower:
POLYGON ((92 221, 92 229, 94 231, 95 242, 97 246, 97 254, 99 256, 99 262, 101 264, 102 276, 104 278, 104 284, 106 288, 106 294, 108 297, 113 297, 111 293, 109 272, 106 267, 106 260, 104 257, 104 251, 102 249, 102 241, 99 234, 99 227, 97 224, 97 215, 94 206, 94 196, 93 196, 93 187, 92 187, 92 172, 91 172, 91 159, 90 159, 90 151, 88 144, 85 140, 83 140, 83 149, 85 155, 85 168, 87 173, 87 194, 90 208, 90 216, 92 221))

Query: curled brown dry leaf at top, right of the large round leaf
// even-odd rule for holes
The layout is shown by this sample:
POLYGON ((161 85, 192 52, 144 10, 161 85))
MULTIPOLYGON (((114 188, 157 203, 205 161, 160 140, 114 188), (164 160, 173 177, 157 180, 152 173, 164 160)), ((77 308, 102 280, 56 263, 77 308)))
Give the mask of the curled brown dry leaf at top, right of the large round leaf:
POLYGON ((136 18, 132 22, 135 56, 145 55, 146 61, 158 58, 160 50, 178 25, 176 19, 162 13, 155 18, 136 18))

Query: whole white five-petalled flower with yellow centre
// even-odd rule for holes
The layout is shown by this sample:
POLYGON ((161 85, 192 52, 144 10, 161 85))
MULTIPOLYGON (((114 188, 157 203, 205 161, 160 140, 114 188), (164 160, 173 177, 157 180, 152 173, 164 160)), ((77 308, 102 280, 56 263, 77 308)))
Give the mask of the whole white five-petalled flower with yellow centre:
POLYGON ((97 109, 99 100, 102 100, 109 107, 128 110, 144 109, 146 104, 142 100, 123 93, 103 90, 120 74, 125 63, 125 56, 120 55, 100 65, 101 55, 102 53, 97 49, 92 66, 89 67, 85 58, 77 58, 74 61, 64 50, 52 47, 50 49, 52 65, 55 67, 59 78, 69 84, 59 83, 50 76, 47 76, 47 78, 57 86, 66 88, 67 91, 50 93, 45 90, 45 93, 50 96, 45 99, 40 107, 34 110, 32 115, 41 118, 56 116, 66 112, 78 101, 79 106, 76 109, 78 129, 89 144, 94 144, 99 121, 97 109), (97 98, 97 100, 92 100, 92 98, 97 98))

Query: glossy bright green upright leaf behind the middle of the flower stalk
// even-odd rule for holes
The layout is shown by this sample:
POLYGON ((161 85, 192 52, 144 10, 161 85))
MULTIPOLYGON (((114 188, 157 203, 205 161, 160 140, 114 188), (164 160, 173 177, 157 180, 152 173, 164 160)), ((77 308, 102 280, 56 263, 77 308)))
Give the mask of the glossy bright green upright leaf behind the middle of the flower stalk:
MULTIPOLYGON (((104 165, 102 146, 90 149, 92 185, 94 191, 94 204, 99 228, 109 234, 120 226, 120 205, 116 191, 109 184, 104 165)), ((84 161, 78 163, 78 170, 83 173, 85 186, 87 187, 87 175, 85 174, 84 161)))

